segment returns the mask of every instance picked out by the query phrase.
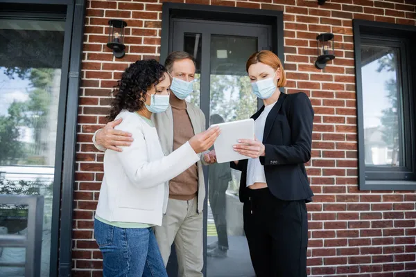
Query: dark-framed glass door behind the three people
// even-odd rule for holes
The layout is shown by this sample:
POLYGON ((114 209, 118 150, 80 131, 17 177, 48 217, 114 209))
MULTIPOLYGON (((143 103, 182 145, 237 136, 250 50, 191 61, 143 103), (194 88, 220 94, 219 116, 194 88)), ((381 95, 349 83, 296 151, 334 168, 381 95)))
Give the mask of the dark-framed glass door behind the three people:
MULTIPOLYGON (((250 118, 257 111, 260 103, 251 91, 245 62, 269 48, 270 34, 270 26, 175 19, 170 50, 196 58, 198 78, 187 100, 202 109, 207 127, 250 118)), ((243 231, 240 175, 229 163, 205 168, 205 276, 255 276, 243 231)))

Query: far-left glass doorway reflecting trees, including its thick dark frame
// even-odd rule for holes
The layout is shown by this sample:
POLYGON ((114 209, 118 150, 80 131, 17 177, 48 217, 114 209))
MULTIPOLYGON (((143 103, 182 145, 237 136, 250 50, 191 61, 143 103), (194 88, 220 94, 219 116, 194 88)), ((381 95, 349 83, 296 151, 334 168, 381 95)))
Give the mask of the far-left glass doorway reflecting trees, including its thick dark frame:
POLYGON ((84 10, 0 0, 0 277, 71 272, 84 10))

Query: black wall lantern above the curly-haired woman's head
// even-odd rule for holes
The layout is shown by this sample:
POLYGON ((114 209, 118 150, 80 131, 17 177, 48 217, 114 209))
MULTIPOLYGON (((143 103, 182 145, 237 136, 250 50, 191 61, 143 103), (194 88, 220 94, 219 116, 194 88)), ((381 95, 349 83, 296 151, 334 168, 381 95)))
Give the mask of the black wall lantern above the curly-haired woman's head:
POLYGON ((124 32, 127 23, 120 19, 111 19, 108 21, 110 30, 108 31, 107 47, 112 49, 114 57, 124 57, 124 32))

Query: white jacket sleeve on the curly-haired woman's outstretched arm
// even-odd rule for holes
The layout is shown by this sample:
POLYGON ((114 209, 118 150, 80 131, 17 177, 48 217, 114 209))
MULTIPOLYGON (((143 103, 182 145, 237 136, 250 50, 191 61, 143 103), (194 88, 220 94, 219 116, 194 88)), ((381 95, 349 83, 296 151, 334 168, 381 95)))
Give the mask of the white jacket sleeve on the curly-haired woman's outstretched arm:
MULTIPOLYGON (((135 125, 130 124, 129 127, 127 124, 123 124, 125 121, 128 120, 123 120, 116 128, 132 133, 134 140, 130 146, 121 147, 123 152, 116 152, 116 157, 123 166, 128 179, 136 186, 141 188, 157 186, 180 175, 199 161, 200 157, 193 151, 189 142, 177 148, 168 156, 162 157, 162 159, 149 161, 150 157, 148 157, 142 127, 137 126, 137 123, 135 125)), ((155 140, 149 143, 158 141, 159 139, 155 137, 155 140)))

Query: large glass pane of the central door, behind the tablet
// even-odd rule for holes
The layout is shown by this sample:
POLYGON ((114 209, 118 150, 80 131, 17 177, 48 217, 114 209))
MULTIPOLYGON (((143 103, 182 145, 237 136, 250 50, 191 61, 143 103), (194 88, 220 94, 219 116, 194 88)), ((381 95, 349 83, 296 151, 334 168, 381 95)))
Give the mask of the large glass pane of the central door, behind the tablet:
MULTIPOLYGON (((255 51, 257 37, 211 35, 210 125, 250 118, 257 111, 245 72, 255 51)), ((209 166, 207 276, 254 276, 243 230, 240 177, 229 163, 209 166)))

